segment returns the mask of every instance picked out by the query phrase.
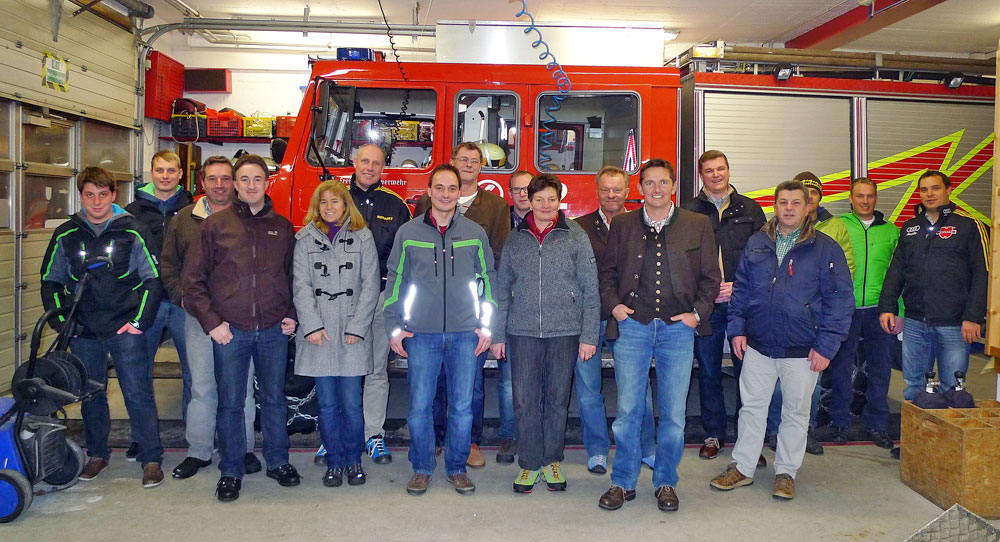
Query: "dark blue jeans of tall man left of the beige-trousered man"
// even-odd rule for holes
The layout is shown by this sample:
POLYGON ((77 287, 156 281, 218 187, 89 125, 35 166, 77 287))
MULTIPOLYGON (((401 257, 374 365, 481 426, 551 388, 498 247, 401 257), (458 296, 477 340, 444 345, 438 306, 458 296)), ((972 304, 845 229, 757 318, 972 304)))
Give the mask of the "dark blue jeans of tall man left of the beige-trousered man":
MULTIPOLYGON (((722 354, 726 343, 726 316, 729 303, 716 303, 709 323, 712 334, 694 338, 694 357, 698 360, 698 399, 701 403, 701 426, 705 435, 726 440, 726 396, 722 387, 722 354)), ((732 347, 730 346, 730 352, 732 347)), ((733 358, 736 381, 740 380, 743 360, 733 358)), ((740 410, 740 391, 736 387, 736 412, 740 410)))

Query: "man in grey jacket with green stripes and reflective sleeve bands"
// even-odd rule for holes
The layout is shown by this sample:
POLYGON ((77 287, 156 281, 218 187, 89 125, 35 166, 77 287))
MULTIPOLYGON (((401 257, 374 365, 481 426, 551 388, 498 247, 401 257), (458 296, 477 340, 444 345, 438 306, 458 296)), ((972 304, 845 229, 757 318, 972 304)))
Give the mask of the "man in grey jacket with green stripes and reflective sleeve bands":
POLYGON ((431 171, 431 207, 396 232, 389 255, 385 325, 392 351, 409 358, 411 495, 427 491, 434 472, 431 407, 442 366, 448 374, 448 481, 461 494, 476 486, 465 473, 472 428, 476 356, 490 347, 493 258, 486 232, 455 212, 459 173, 442 164, 431 171))

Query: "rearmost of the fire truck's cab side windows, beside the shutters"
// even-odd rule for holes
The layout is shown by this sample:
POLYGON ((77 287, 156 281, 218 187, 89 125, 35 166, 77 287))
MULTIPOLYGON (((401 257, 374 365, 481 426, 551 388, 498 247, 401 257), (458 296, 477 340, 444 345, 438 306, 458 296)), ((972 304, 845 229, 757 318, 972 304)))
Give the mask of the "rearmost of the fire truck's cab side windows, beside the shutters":
POLYGON ((638 170, 639 96, 631 92, 572 92, 539 96, 535 165, 539 171, 638 170))

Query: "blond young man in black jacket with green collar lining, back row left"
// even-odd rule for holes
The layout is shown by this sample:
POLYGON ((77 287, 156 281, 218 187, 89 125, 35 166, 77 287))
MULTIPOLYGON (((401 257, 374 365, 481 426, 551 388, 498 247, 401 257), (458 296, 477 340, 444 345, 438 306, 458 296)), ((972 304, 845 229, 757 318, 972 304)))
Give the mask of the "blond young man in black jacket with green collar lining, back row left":
MULTIPOLYGON (((181 209, 191 204, 191 194, 180 186, 181 158, 173 151, 160 151, 149 161, 150 182, 135 191, 135 201, 128 204, 125 210, 149 228, 150 249, 157 254, 163 251, 163 238, 170 224, 170 219, 181 209)), ((177 349, 177 357, 181 366, 187 365, 187 350, 184 344, 184 309, 170 302, 168 296, 163 296, 156 320, 143 334, 146 339, 146 352, 150 360, 156 359, 156 350, 160 347, 163 328, 167 328, 177 349)), ((187 411, 191 400, 190 385, 184 386, 181 405, 187 411)), ((129 446, 125 458, 135 461, 136 444, 129 446)))

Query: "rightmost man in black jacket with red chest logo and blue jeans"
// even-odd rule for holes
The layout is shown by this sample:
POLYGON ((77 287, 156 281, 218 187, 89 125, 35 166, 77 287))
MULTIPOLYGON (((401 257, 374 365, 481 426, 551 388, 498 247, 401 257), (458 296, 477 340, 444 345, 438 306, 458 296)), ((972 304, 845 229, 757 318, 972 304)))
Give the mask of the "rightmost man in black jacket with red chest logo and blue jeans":
POLYGON ((885 274, 879 312, 891 333, 903 295, 903 396, 913 399, 937 360, 942 388, 969 368, 971 345, 986 323, 986 226, 951 202, 951 180, 927 171, 918 181, 917 216, 903 224, 885 274))

